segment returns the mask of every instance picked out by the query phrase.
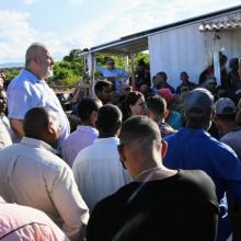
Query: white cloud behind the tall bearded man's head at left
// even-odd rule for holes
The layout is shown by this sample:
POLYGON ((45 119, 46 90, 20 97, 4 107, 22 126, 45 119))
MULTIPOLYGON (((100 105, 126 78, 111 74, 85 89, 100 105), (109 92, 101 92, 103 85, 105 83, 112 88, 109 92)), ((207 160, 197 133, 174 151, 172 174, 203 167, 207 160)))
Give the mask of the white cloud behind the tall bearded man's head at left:
POLYGON ((69 53, 71 46, 51 32, 38 32, 28 23, 27 12, 0 10, 0 62, 24 61, 26 48, 34 42, 46 44, 54 55, 69 53))

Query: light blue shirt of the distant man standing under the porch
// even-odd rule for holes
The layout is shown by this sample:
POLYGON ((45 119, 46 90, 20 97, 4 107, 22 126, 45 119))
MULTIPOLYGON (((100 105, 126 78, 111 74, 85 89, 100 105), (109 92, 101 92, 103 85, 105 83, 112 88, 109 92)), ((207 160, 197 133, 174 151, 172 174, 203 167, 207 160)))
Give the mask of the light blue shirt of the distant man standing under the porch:
POLYGON ((120 91, 122 83, 127 82, 128 73, 124 69, 120 68, 108 69, 103 67, 96 67, 96 70, 101 72, 104 76, 104 78, 116 77, 115 90, 117 92, 120 91))

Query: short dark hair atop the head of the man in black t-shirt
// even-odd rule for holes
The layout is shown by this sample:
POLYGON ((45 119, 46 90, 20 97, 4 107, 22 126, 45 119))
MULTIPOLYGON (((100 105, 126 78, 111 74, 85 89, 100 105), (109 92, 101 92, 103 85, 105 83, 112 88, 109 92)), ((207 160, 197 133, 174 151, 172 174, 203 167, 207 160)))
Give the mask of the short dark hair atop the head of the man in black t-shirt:
POLYGON ((158 125, 151 118, 139 115, 123 123, 119 140, 125 145, 139 140, 151 144, 152 140, 161 140, 161 134, 158 125))

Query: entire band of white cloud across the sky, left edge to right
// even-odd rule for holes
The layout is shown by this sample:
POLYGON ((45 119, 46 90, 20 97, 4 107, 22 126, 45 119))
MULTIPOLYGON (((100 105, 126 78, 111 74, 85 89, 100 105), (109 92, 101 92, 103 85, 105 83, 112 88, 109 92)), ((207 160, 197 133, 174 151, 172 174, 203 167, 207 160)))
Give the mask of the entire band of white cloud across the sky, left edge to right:
MULTIPOLYGON (((89 3, 87 0, 69 1, 89 3)), ((239 2, 240 0, 232 0, 231 4, 239 2)), ((70 26, 72 30, 68 34, 67 30, 62 30, 61 35, 35 30, 28 23, 31 15, 27 12, 0 10, 0 62, 23 61, 25 50, 33 42, 45 43, 54 56, 60 59, 72 48, 93 47, 125 35, 229 7, 228 0, 172 0, 168 3, 161 0, 113 0, 110 9, 85 19, 81 25, 70 26)))

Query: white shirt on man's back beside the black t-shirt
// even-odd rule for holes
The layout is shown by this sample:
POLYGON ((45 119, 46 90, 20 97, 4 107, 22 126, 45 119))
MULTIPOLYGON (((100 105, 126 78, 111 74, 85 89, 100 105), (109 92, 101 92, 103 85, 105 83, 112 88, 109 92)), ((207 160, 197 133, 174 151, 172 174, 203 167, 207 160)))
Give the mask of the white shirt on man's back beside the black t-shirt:
POLYGON ((73 162, 77 185, 90 209, 131 181, 120 163, 118 144, 116 137, 99 138, 82 149, 73 162))

